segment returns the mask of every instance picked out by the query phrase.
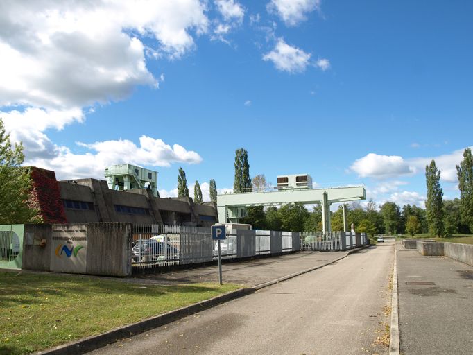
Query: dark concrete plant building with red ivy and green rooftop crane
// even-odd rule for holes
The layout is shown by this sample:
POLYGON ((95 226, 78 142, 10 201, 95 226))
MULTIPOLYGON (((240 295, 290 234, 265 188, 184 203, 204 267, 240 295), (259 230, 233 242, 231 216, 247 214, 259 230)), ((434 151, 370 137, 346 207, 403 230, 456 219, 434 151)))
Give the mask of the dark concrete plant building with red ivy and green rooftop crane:
POLYGON ((209 227, 216 205, 192 198, 157 196, 157 172, 121 164, 106 169, 107 181, 57 181, 54 171, 31 167, 33 194, 45 223, 127 222, 209 227))

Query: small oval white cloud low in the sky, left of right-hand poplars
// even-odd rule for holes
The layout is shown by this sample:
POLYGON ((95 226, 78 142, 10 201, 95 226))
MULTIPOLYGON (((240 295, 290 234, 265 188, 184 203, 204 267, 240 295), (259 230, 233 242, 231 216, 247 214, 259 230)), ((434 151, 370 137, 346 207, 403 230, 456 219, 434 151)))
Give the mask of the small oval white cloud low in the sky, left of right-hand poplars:
POLYGON ((392 178, 415 172, 402 157, 375 153, 369 153, 365 157, 355 160, 350 166, 350 170, 361 178, 392 178))

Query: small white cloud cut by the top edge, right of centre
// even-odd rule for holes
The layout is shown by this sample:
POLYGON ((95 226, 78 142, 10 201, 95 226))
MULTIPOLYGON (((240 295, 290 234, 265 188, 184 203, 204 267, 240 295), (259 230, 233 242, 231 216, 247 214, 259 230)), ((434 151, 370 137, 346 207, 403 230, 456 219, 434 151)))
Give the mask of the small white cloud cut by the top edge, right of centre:
POLYGON ((320 0, 271 0, 268 12, 277 14, 286 26, 297 26, 307 13, 320 10, 320 0))

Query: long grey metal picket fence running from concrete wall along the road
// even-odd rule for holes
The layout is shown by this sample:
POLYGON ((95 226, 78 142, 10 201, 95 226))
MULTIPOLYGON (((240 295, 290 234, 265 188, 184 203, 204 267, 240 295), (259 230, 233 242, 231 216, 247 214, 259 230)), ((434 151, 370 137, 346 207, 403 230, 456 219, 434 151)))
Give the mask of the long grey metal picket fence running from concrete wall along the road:
MULTIPOLYGON (((178 225, 134 225, 132 268, 162 268, 205 263, 218 258, 210 228, 178 225)), ((346 250, 364 245, 365 234, 345 232, 275 232, 227 228, 221 241, 223 259, 281 254, 298 250, 346 250)))

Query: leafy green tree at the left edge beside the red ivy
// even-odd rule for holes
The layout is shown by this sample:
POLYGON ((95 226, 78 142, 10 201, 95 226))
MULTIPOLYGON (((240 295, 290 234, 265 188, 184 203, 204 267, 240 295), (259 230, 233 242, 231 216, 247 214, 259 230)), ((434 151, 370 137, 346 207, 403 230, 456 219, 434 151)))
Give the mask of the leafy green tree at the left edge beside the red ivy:
POLYGON ((0 225, 40 222, 39 209, 31 200, 31 179, 20 167, 24 162, 23 145, 12 146, 0 119, 0 225))

